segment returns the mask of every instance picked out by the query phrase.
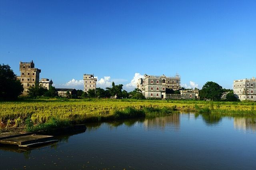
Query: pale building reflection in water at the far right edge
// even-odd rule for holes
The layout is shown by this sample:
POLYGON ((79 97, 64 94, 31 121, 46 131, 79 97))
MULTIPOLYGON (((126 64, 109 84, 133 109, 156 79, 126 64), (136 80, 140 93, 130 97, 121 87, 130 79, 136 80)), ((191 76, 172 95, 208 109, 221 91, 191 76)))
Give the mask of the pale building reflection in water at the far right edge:
POLYGON ((234 117, 234 128, 256 131, 256 118, 234 117))

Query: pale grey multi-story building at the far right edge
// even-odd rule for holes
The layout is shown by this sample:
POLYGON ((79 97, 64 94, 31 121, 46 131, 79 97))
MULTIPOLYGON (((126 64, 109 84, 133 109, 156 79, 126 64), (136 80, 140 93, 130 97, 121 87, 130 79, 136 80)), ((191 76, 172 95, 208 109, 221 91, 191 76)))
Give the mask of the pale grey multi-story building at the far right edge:
POLYGON ((234 94, 241 101, 251 100, 256 101, 256 79, 241 79, 234 80, 234 94))

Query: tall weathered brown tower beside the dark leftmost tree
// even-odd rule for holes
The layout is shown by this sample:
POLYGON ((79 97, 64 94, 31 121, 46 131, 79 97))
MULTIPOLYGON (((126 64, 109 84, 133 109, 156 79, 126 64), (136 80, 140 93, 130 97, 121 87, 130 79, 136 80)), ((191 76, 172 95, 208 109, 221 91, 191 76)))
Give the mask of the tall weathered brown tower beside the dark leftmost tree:
POLYGON ((34 87, 39 83, 40 69, 35 68, 33 60, 31 62, 20 61, 20 82, 24 88, 22 95, 28 94, 29 87, 34 87))

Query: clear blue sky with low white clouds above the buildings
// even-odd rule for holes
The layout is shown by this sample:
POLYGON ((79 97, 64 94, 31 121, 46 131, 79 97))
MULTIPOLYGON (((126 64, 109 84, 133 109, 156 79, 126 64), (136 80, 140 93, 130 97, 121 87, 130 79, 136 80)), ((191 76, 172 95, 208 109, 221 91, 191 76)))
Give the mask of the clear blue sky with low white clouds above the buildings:
POLYGON ((183 86, 256 77, 255 0, 0 0, 0 63, 33 60, 56 87, 84 73, 124 89, 145 73, 183 86), (136 74, 137 73, 137 74, 136 74), (132 81, 132 82, 131 82, 132 81))

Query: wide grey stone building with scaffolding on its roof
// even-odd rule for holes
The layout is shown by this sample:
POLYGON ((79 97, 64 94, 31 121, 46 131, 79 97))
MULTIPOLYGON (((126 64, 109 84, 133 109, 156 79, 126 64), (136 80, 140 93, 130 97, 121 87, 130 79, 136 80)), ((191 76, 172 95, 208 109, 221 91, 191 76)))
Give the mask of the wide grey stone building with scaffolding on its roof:
POLYGON ((166 99, 166 89, 180 89, 180 76, 174 77, 144 75, 144 78, 138 79, 137 88, 142 94, 149 98, 166 99))

